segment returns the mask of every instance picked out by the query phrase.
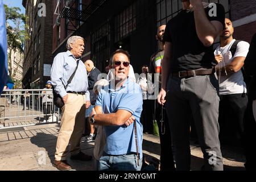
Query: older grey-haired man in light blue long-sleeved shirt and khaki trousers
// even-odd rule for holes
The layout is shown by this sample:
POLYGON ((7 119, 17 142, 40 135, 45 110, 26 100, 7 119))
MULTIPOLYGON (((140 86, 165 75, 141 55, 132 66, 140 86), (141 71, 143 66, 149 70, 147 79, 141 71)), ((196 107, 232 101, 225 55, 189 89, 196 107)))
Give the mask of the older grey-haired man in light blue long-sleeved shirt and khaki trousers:
POLYGON ((86 68, 80 59, 84 52, 84 39, 80 36, 71 36, 67 42, 67 49, 67 52, 55 56, 51 69, 52 85, 64 102, 54 161, 56 168, 63 171, 71 169, 67 163, 69 143, 71 159, 92 159, 92 156, 80 150, 80 139, 85 127, 85 110, 90 105, 86 68), (75 76, 68 84, 76 67, 75 76))

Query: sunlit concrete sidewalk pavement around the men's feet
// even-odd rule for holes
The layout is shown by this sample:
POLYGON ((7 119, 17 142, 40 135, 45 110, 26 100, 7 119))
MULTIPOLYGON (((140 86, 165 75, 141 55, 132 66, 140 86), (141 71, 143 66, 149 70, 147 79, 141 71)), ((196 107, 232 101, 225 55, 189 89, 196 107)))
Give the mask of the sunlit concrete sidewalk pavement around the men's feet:
MULTIPOLYGON (((58 131, 57 123, 0 130, 0 171, 57 171, 52 163, 58 131)), ((93 146, 93 142, 81 143, 82 152, 93 155, 93 146)), ((143 135, 143 154, 147 161, 160 159, 159 137, 143 135)), ((222 155, 225 170, 245 170, 241 148, 223 146, 222 155)), ((93 160, 68 162, 73 170, 94 171, 93 160)), ((203 162, 200 147, 191 141, 191 170, 200 171, 203 162)))

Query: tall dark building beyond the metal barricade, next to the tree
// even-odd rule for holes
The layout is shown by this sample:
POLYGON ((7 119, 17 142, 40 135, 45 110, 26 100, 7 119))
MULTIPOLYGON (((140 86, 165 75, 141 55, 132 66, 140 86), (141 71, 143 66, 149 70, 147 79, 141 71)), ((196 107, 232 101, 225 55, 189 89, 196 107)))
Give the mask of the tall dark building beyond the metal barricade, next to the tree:
POLYGON ((42 89, 52 63, 52 1, 23 0, 27 38, 24 45, 23 87, 42 89))

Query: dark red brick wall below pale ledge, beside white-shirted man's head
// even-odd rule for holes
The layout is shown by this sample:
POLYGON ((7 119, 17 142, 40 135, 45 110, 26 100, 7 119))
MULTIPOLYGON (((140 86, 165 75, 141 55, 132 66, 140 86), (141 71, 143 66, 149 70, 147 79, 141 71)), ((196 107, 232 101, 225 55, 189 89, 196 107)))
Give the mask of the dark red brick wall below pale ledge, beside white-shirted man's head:
POLYGON ((233 37, 235 39, 245 40, 246 42, 250 43, 251 38, 255 33, 256 33, 256 21, 248 24, 244 24, 239 27, 235 27, 233 37))

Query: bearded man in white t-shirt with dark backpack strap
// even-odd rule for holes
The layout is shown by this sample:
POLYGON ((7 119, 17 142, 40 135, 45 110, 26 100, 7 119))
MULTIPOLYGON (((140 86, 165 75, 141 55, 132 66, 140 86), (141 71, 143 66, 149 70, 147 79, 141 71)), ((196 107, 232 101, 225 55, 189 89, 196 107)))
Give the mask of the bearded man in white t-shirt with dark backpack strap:
POLYGON ((220 36, 220 46, 216 48, 216 72, 220 84, 220 141, 222 144, 241 146, 243 135, 243 117, 247 106, 246 84, 242 67, 249 51, 249 43, 233 39, 232 22, 226 18, 225 28, 220 36), (237 43, 232 51, 232 45, 237 43))

